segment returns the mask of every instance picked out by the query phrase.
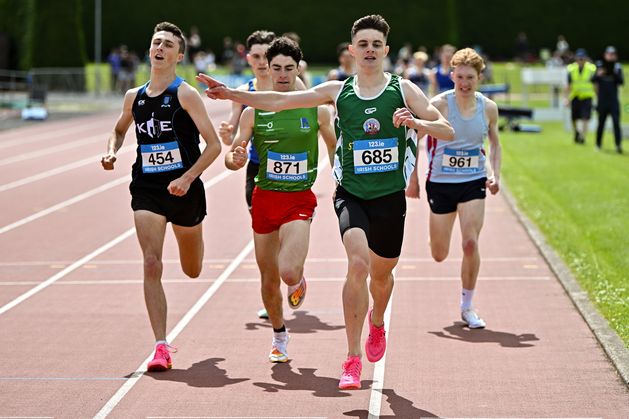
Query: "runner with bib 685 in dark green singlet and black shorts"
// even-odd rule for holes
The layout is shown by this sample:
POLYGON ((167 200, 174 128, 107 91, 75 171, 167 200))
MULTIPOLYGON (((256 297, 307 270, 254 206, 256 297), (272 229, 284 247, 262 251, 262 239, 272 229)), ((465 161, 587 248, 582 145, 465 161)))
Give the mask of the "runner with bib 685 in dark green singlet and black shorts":
POLYGON ((361 334, 369 293, 373 309, 365 343, 367 359, 378 361, 386 349, 384 313, 402 246, 404 188, 415 164, 416 135, 430 134, 443 140, 454 136, 450 124, 417 86, 383 71, 388 33, 389 25, 382 16, 358 19, 350 45, 356 75, 305 91, 236 91, 207 75, 197 76, 209 86, 206 94, 212 99, 231 99, 268 111, 336 106, 334 175, 338 186, 334 206, 348 261, 343 286, 348 351, 339 382, 342 389, 361 387, 361 334))

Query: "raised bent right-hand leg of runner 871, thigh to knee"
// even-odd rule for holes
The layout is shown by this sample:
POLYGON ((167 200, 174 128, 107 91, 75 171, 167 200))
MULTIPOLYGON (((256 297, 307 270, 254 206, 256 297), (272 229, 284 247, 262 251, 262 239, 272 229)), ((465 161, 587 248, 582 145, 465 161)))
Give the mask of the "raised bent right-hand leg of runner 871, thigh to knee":
POLYGON ((310 221, 295 220, 282 224, 279 234, 280 278, 286 285, 297 285, 304 275, 304 263, 310 240, 310 221))

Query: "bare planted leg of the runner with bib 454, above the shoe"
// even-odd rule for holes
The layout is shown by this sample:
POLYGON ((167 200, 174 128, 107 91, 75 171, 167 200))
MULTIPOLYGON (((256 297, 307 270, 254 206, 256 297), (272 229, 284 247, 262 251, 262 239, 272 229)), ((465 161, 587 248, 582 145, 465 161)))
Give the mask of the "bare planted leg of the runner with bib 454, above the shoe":
POLYGON ((135 229, 144 256, 144 301, 155 340, 166 340, 166 296, 162 287, 162 250, 166 217, 150 211, 134 211, 135 229))

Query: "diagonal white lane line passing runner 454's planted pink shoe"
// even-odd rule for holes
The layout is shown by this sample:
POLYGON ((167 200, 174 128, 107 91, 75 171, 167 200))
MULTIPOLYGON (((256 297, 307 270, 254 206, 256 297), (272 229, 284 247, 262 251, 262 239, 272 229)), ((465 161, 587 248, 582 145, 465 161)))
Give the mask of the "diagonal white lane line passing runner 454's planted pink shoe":
MULTIPOLYGON (((229 266, 223 271, 223 273, 216 278, 216 281, 212 284, 210 288, 205 291, 205 293, 197 300, 197 302, 192 306, 190 310, 183 316, 183 318, 177 323, 174 329, 166 336, 166 340, 168 342, 173 342, 175 338, 182 332, 182 330, 190 323, 190 321, 196 316, 196 314, 203 308, 203 306, 212 298, 212 296, 218 291, 218 289, 223 285, 223 283, 229 278, 229 276, 238 268, 238 266, 242 263, 242 261, 251 253, 253 250, 253 240, 250 240, 249 243, 240 251, 238 256, 234 258, 234 260, 229 264, 229 266)), ((94 418, 105 418, 107 417, 111 411, 120 403, 120 401, 124 398, 124 396, 136 385, 136 383, 140 380, 142 375, 146 372, 146 364, 153 358, 153 353, 150 353, 148 357, 140 366, 135 370, 133 374, 131 374, 131 378, 126 381, 122 387, 118 389, 118 391, 109 399, 109 401, 103 406, 103 408, 94 416, 94 418)))

